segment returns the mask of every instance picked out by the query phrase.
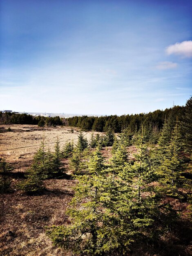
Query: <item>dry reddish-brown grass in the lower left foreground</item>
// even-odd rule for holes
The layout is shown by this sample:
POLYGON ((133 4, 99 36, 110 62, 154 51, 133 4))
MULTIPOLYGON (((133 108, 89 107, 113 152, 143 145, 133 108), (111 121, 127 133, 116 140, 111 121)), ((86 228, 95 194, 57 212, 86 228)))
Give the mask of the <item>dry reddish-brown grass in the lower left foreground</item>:
POLYGON ((46 180, 46 190, 41 195, 30 196, 20 191, 0 195, 0 255, 67 255, 52 246, 45 226, 68 223, 65 211, 75 183, 46 180))

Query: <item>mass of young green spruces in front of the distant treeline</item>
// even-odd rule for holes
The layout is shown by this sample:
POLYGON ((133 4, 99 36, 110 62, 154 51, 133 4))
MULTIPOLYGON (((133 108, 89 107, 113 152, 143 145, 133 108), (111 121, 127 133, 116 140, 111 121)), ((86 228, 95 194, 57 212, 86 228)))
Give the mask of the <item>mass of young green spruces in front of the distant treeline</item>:
MULTIPOLYGON (((111 128, 104 136, 92 133, 89 141, 80 132, 76 145, 70 141, 63 148, 57 139, 53 153, 42 141, 26 179, 17 188, 36 193, 42 191, 45 179, 66 177, 64 159, 69 159, 70 171, 78 180, 67 210, 68 225, 64 221, 46 227, 54 245, 70 249, 74 255, 127 256, 133 246, 143 243, 158 255, 162 251, 162 255, 189 255, 189 251, 182 254, 179 246, 171 254, 166 246, 161 247, 162 238, 169 233, 173 236, 174 226, 181 220, 179 205, 191 202, 191 181, 186 174, 192 156, 192 98, 180 116, 182 121, 178 116, 172 111, 165 118, 158 138, 149 121, 148 128, 142 125, 132 137, 130 128, 118 137, 111 128), (127 151, 130 143, 138 148, 134 155, 127 151), (109 159, 103 157, 103 146, 112 146, 109 159)), ((0 192, 9 189, 10 171, 9 164, 0 159, 0 192)), ((189 245, 190 238, 184 239, 189 245)))

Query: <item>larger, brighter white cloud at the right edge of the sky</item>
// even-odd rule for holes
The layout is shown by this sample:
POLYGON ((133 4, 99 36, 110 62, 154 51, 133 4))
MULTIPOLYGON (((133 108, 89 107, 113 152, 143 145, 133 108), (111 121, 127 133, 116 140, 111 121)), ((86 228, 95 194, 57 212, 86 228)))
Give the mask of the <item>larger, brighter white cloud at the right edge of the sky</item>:
POLYGON ((192 57, 192 40, 175 43, 166 48, 166 53, 181 55, 183 57, 192 57))

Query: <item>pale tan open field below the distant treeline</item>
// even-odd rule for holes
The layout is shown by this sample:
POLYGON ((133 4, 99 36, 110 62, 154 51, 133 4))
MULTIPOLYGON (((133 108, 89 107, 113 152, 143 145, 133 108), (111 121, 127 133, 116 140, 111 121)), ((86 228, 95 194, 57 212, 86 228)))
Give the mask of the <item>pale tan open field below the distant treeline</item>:
MULTIPOLYGON (((37 125, 19 124, 0 125, 0 130, 7 130, 9 127, 11 128, 10 132, 0 133, 0 156, 4 156, 8 162, 13 162, 20 158, 32 159, 43 137, 45 138, 46 146, 53 151, 57 137, 62 148, 66 141, 74 140, 74 143, 76 143, 79 133, 78 128, 75 128, 74 133, 71 133, 71 127, 44 128, 37 125)), ((89 140, 91 132, 83 132, 83 134, 89 140)))

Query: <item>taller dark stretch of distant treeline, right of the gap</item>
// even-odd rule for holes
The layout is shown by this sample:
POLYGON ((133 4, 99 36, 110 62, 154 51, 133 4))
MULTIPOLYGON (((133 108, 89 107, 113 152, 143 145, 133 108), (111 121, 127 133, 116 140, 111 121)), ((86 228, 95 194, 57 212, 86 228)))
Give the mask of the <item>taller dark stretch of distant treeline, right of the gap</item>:
POLYGON ((155 110, 147 114, 110 115, 105 117, 75 116, 67 118, 67 124, 85 131, 94 130, 98 132, 105 132, 108 129, 112 129, 114 132, 121 132, 126 128, 129 128, 131 132, 135 132, 142 125, 147 126, 147 128, 152 126, 152 128, 160 130, 164 124, 165 117, 172 119, 180 118, 183 112, 185 112, 185 107, 174 106, 173 108, 155 110))

